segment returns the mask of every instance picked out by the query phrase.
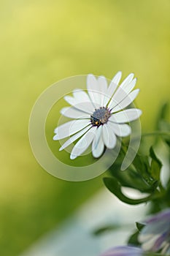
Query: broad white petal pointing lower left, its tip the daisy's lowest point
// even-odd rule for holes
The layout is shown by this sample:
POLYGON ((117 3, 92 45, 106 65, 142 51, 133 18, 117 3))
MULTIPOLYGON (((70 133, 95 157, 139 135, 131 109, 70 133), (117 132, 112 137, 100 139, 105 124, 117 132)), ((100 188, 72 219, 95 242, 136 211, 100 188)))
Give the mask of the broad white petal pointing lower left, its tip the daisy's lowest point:
POLYGON ((76 157, 79 157, 83 152, 85 152, 88 146, 90 146, 90 143, 93 141, 96 129, 96 127, 92 127, 88 132, 85 133, 85 135, 82 136, 82 138, 80 138, 80 140, 72 149, 70 159, 75 159, 76 157))

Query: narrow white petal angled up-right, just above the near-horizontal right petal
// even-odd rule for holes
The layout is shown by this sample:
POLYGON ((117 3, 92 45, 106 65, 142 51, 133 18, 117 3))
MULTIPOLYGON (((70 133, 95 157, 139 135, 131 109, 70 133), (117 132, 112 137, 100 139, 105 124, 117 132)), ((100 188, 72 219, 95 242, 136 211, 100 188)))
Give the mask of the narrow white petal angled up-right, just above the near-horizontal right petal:
POLYGON ((126 108, 128 105, 131 104, 131 102, 134 101, 134 99, 137 97, 139 94, 139 89, 136 89, 134 91, 131 91, 130 94, 128 94, 125 99, 123 99, 118 105, 115 106, 115 108, 112 108, 112 113, 117 112, 119 110, 123 110, 123 108, 126 108))

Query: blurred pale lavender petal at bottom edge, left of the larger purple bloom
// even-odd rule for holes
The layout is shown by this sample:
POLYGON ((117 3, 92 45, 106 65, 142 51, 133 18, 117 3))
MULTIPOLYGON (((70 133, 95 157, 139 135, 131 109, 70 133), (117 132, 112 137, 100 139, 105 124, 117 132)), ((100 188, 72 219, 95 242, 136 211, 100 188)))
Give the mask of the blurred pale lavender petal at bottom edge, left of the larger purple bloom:
POLYGON ((101 256, 142 256, 142 249, 134 246, 117 246, 101 256))

